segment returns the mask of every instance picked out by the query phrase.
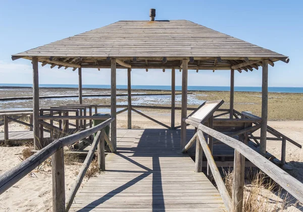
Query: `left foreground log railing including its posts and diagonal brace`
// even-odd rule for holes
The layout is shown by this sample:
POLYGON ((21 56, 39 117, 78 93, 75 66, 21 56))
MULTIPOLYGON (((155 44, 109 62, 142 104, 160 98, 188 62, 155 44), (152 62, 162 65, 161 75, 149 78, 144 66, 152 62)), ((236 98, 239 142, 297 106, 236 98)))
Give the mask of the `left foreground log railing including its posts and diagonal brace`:
MULTIPOLYGON (((96 116, 97 117, 97 116, 96 116)), ((70 117, 66 117, 70 118, 70 117)), ((105 170, 105 150, 104 142, 106 140, 112 152, 115 152, 114 144, 111 144, 108 135, 103 129, 109 125, 114 118, 109 118, 103 123, 93 126, 89 129, 77 132, 66 137, 54 140, 51 144, 47 145, 33 156, 29 157, 19 165, 0 176, 0 194, 4 193, 7 189, 12 187, 15 183, 25 177, 38 165, 40 165, 47 158, 52 156, 52 179, 53 179, 53 211, 68 211, 77 190, 84 178, 88 166, 92 160, 96 148, 98 149, 98 167, 100 170, 105 170), (75 180, 71 192, 65 201, 65 184, 64 184, 64 147, 70 146, 78 140, 85 139, 90 135, 97 133, 92 142, 91 149, 89 150, 86 159, 81 167, 81 170, 75 180)), ((46 122, 45 122, 46 123, 46 122)))

